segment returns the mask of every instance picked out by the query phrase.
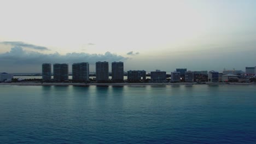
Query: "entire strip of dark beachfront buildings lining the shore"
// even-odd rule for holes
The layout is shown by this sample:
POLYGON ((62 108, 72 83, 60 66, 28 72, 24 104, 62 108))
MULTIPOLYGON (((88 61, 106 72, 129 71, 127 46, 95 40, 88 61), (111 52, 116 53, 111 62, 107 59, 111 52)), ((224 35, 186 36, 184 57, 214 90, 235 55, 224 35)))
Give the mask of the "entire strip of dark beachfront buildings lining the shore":
MULTIPOLYGON (((53 64, 53 73, 50 63, 42 64, 42 79, 40 82, 73 82, 73 83, 177 83, 177 82, 197 82, 197 83, 216 83, 216 82, 256 82, 256 67, 246 67, 242 70, 223 70, 218 71, 190 71, 186 68, 177 68, 171 74, 166 71, 155 70, 146 73, 145 70, 124 71, 124 62, 112 62, 112 69, 109 72, 109 63, 96 62, 96 73, 90 74, 89 63, 73 63, 72 74, 69 74, 67 63, 53 64), (52 77, 53 75, 53 77, 52 77), (72 79, 68 76, 72 75, 72 79), (90 79, 90 76, 95 76, 90 79), (127 79, 124 79, 127 76, 127 79), (147 78, 147 79, 146 79, 147 78)), ((13 80, 13 74, 1 73, 0 82, 19 82, 13 80)))

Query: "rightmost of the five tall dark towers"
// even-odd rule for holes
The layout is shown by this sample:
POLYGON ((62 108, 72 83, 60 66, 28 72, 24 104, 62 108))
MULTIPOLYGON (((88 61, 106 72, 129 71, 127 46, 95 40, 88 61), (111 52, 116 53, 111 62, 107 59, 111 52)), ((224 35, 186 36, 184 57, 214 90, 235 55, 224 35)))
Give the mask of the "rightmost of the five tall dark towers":
POLYGON ((112 62, 112 81, 123 82, 124 81, 124 63, 112 62))

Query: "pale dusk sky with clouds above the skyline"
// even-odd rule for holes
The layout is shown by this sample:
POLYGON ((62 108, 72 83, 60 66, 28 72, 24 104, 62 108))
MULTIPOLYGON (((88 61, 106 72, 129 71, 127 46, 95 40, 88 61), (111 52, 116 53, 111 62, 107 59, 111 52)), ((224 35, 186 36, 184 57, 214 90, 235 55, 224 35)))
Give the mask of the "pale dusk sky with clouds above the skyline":
POLYGON ((42 63, 124 62, 124 70, 256 66, 256 1, 1 1, 0 72, 42 63))

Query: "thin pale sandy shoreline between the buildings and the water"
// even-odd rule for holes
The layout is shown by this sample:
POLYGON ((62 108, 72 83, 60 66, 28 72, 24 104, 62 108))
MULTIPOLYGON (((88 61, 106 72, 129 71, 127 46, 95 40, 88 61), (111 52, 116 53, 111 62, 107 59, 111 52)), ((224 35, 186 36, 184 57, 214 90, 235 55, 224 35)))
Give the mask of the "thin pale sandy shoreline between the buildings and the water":
POLYGON ((53 82, 53 83, 41 83, 41 82, 11 82, 0 83, 0 86, 179 86, 179 85, 256 85, 256 83, 196 83, 196 82, 177 82, 177 83, 65 83, 65 82, 53 82))

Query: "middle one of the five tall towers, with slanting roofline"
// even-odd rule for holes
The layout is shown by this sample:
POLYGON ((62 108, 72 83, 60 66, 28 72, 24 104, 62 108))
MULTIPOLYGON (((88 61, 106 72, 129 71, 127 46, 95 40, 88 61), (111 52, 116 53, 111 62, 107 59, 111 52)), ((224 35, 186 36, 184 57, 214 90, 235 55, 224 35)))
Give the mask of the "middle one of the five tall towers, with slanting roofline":
POLYGON ((73 81, 77 82, 89 81, 89 63, 73 63, 72 77, 73 81))

